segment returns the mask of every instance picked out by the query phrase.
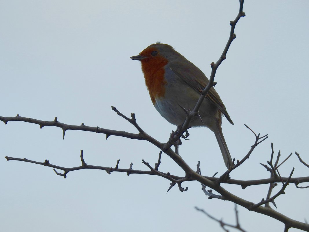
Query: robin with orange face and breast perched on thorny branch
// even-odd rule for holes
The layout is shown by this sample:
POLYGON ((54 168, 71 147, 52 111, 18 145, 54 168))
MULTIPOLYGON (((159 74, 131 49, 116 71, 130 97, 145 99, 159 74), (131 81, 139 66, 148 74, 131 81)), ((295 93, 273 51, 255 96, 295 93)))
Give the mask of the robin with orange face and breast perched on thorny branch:
MULTIPOLYGON (((137 56, 130 57, 142 64, 145 84, 155 109, 171 124, 182 125, 186 112, 193 109, 201 91, 209 83, 205 74, 178 53, 172 46, 157 42, 149 45, 137 56)), ((234 167, 230 152, 222 133, 222 115, 234 125, 226 108, 211 87, 200 109, 189 126, 208 127, 214 132, 224 163, 229 171, 234 167)))

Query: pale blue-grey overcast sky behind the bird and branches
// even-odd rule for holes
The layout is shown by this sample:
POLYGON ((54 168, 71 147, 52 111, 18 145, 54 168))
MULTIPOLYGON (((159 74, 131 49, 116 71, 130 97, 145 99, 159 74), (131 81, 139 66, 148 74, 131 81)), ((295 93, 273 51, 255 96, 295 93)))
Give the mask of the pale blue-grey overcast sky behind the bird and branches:
MULTIPOLYGON (((1 116, 19 114, 51 121, 128 131, 136 129, 111 110, 134 112, 139 125, 160 142, 176 126, 153 107, 145 87, 138 55, 161 41, 210 76, 235 19, 234 1, 0 1, 1 116)), ((223 119, 222 130, 236 159, 243 158, 256 133, 269 134, 252 156, 233 171, 233 179, 269 178, 259 162, 270 159, 270 144, 282 160, 297 151, 308 157, 308 1, 245 1, 227 59, 215 81, 235 125, 223 119)), ((80 150, 87 164, 147 170, 158 148, 85 131, 67 131, 26 122, 0 123, 0 222, 2 231, 220 231, 219 225, 194 206, 234 223, 234 204, 208 200, 198 183, 173 187, 155 176, 80 170, 64 179, 52 168, 6 161, 5 156, 28 158, 73 167, 80 150)), ((207 128, 190 129, 180 154, 193 168, 201 161, 203 175, 226 167, 207 128)), ((295 155, 281 166, 281 176, 308 176, 295 155)), ((160 170, 183 176, 166 155, 160 170)), ((233 194, 254 203, 266 197, 268 185, 247 187, 223 184, 233 194)), ((280 184, 273 193, 281 188, 280 184)), ((298 221, 309 220, 309 189, 286 188, 276 199, 278 212, 298 221)), ((247 231, 283 231, 283 224, 239 207, 247 231)), ((297 231, 290 229, 289 231, 297 231)))

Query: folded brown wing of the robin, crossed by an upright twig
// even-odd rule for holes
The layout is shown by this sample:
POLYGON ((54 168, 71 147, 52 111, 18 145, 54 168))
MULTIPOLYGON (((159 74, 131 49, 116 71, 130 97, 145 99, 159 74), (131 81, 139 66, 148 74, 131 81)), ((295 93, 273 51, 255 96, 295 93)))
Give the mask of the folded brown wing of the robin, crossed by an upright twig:
MULTIPOLYGON (((205 74, 191 62, 170 62, 169 68, 177 76, 179 76, 180 79, 184 81, 184 83, 188 84, 188 86, 193 88, 199 94, 201 94, 201 91, 206 87, 209 82, 205 74)), ((217 106, 218 109, 224 114, 226 119, 232 125, 234 125, 233 121, 230 118, 230 115, 227 113, 226 108, 219 97, 219 94, 216 92, 214 87, 210 88, 210 90, 206 94, 206 98, 210 100, 215 106, 217 106)))

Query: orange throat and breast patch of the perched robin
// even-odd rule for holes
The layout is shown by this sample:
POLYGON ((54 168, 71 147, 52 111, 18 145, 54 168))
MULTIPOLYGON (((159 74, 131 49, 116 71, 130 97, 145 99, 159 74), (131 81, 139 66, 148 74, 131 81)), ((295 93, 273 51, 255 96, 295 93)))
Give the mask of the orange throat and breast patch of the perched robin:
POLYGON ((144 73, 145 83, 149 91, 152 104, 155 105, 155 98, 164 97, 165 85, 164 66, 167 65, 167 59, 162 56, 156 56, 141 60, 142 71, 144 73))

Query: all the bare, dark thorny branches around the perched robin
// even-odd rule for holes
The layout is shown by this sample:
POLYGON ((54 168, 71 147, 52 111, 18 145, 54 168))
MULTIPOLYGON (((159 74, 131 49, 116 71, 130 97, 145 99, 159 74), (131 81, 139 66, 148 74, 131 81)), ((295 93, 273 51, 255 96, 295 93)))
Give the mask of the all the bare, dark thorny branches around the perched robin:
MULTIPOLYGON (((251 211, 254 211, 254 212, 257 212, 257 213, 261 213, 261 214, 267 215, 269 217, 273 217, 274 219, 281 221, 285 225, 285 231, 288 231, 288 229, 292 228, 292 227, 300 229, 300 230, 304 230, 304 231, 309 231, 309 225, 307 223, 303 223, 303 222, 300 222, 300 221, 293 220, 289 217, 286 217, 285 215, 283 215, 283 214, 277 212, 276 210, 274 210, 273 208, 271 208, 270 205, 269 205, 269 203, 271 202, 272 204, 274 204, 276 206, 274 199, 276 199, 277 197, 284 194, 284 190, 288 187, 289 183, 294 183, 295 186, 298 187, 298 188, 309 187, 309 186, 307 186, 307 187, 299 187, 298 186, 299 183, 309 182, 309 177, 292 178, 294 168, 291 171, 289 177, 281 177, 278 168, 291 155, 289 157, 287 157, 281 164, 278 165, 279 158, 280 158, 281 154, 280 154, 280 151, 279 151, 276 161, 273 162, 274 151, 273 151, 273 145, 272 145, 271 146, 272 152, 271 152, 270 161, 267 161, 267 165, 262 164, 266 168, 266 170, 270 172, 270 178, 244 181, 244 180, 234 180, 234 179, 231 179, 231 177, 230 177, 230 174, 233 172, 234 169, 239 168, 240 165, 243 165, 243 163, 247 159, 249 159, 250 155, 252 154, 252 152, 256 148, 256 146, 259 145, 260 143, 262 143, 263 141, 265 141, 268 138, 267 134, 264 135, 264 136, 260 136, 260 133, 256 134, 251 128, 249 128, 247 125, 245 125, 255 136, 254 144, 251 146, 249 152, 243 157, 243 159, 241 159, 240 161, 239 160, 236 161, 234 169, 232 169, 231 171, 226 171, 225 173, 223 173, 218 178, 214 177, 215 175, 213 175, 212 177, 202 176, 201 175, 201 163, 200 162, 198 162, 198 164, 197 164, 197 169, 193 170, 184 161, 184 159, 178 154, 178 147, 181 145, 181 142, 179 142, 180 141, 179 139, 180 138, 186 139, 189 136, 188 135, 189 122, 191 121, 191 119, 193 117, 196 117, 196 116, 199 115, 199 113, 198 113, 199 108, 202 104, 202 101, 205 99, 207 92, 210 90, 211 87, 216 85, 216 82, 214 82, 214 77, 215 77, 216 71, 217 71, 219 65, 223 62, 223 60, 226 59, 226 54, 228 52, 228 49, 229 49, 232 41, 236 38, 236 35, 235 35, 234 32, 235 32, 235 26, 236 26, 237 22, 239 21, 239 19, 241 17, 245 16, 245 13, 243 12, 243 0, 240 0, 239 2, 240 2, 240 4, 239 4, 238 15, 236 16, 234 21, 230 22, 231 31, 230 31, 230 36, 228 38, 226 46, 225 46, 220 58, 218 59, 218 61, 216 63, 214 63, 214 62, 211 63, 212 71, 211 71, 209 83, 207 84, 205 89, 201 91, 201 97, 197 101, 197 104, 195 105, 193 110, 191 110, 191 111, 189 110, 187 112, 187 117, 186 117, 184 123, 177 127, 176 132, 173 131, 171 133, 171 136, 166 143, 161 143, 158 140, 156 140, 155 138, 153 138, 152 136, 148 135, 138 125, 134 113, 131 114, 131 118, 129 118, 129 117, 125 116, 124 114, 122 114, 120 111, 118 111, 113 106, 112 106, 112 110, 115 111, 117 113, 117 115, 121 116, 126 121, 131 123, 136 128, 138 133, 129 133, 129 132, 125 132, 125 131, 115 131, 115 130, 100 128, 100 127, 90 127, 90 126, 84 125, 84 123, 82 123, 79 126, 69 125, 69 124, 64 124, 64 123, 59 122, 57 117, 53 121, 42 121, 42 120, 33 119, 33 118, 21 117, 19 115, 15 116, 15 117, 2 117, 2 116, 0 116, 0 120, 3 121, 5 124, 7 124, 7 122, 11 122, 11 121, 22 121, 22 122, 38 124, 38 125, 40 125, 41 129, 43 127, 47 127, 47 126, 60 127, 63 131, 63 133, 62 133, 63 139, 65 137, 65 132, 67 130, 77 130, 77 131, 89 131, 89 132, 95 132, 95 133, 98 133, 98 134, 105 134, 106 139, 108 139, 109 136, 114 135, 114 136, 120 136, 120 137, 135 139, 135 140, 146 140, 146 141, 150 142, 151 144, 155 145, 157 148, 159 148, 161 150, 161 152, 159 153, 158 162, 155 165, 152 166, 148 162, 142 160, 143 164, 145 164, 145 166, 149 170, 134 170, 132 168, 133 163, 129 164, 129 168, 121 169, 121 168, 119 168, 119 166, 121 165, 120 160, 116 161, 115 167, 88 165, 85 162, 85 159, 83 157, 83 150, 80 153, 81 165, 78 166, 78 167, 72 167, 72 168, 53 165, 53 164, 49 163, 48 160, 45 160, 44 162, 38 162, 38 161, 28 160, 26 158, 22 159, 22 158, 8 157, 8 156, 6 156, 5 158, 8 161, 10 161, 10 160, 24 161, 24 162, 29 162, 29 163, 34 163, 34 164, 38 164, 38 165, 44 165, 44 166, 52 167, 57 175, 63 176, 64 178, 67 177, 67 174, 69 172, 75 171, 75 170, 81 170, 81 169, 105 170, 108 174, 111 174, 112 172, 124 172, 124 173, 127 173, 127 175, 130 175, 130 174, 156 175, 156 176, 163 177, 163 178, 165 178, 165 179, 167 179, 171 182, 167 191, 169 191, 176 184, 178 185, 178 188, 179 188, 180 191, 182 191, 182 192, 187 191, 188 187, 186 187, 186 188, 182 187, 182 183, 187 182, 187 181, 197 181, 202 185, 202 191, 204 191, 205 195, 207 195, 209 199, 216 198, 216 199, 220 199, 220 200, 231 201, 231 202, 234 202, 235 204, 243 206, 244 208, 247 208, 248 210, 251 210, 251 211), (186 135, 183 135, 184 132, 186 132, 186 135), (171 149, 171 147, 173 145, 177 148, 176 152, 174 152, 171 149), (172 175, 169 172, 165 173, 165 172, 159 171, 159 165, 161 164, 162 153, 165 153, 177 165, 179 165, 182 168, 182 170, 184 171, 184 175, 182 177, 172 175), (62 170, 63 172, 58 172, 57 170, 62 170), (264 198, 263 198, 260 202, 253 203, 249 200, 242 199, 242 198, 234 195, 233 193, 227 191, 225 188, 223 188, 221 186, 221 183, 240 185, 243 189, 248 187, 248 186, 252 186, 252 185, 269 184, 269 190, 266 194, 266 200, 264 200, 264 198), (271 196, 273 188, 277 185, 277 183, 282 183, 282 187, 276 194, 271 196), (210 188, 210 189, 207 190, 206 188, 210 188), (214 193, 214 192, 216 192, 216 193, 214 193), (265 205, 265 206, 263 206, 263 205, 265 205)), ((300 158, 298 153, 295 152, 295 154, 298 156, 298 159, 301 163, 303 163, 306 167, 309 167, 309 165, 307 163, 305 163, 300 158)), ((235 159, 233 160, 233 162, 235 162, 235 159)), ((230 227, 233 227, 233 228, 238 229, 240 231, 244 231, 239 226, 238 212, 237 212, 236 207, 235 207, 236 226, 229 225, 229 224, 222 222, 221 220, 215 219, 214 217, 210 216, 208 213, 206 213, 205 211, 203 211, 201 209, 198 209, 198 210, 205 213, 208 217, 220 222, 220 225, 222 226, 222 228, 224 230, 226 230, 225 226, 230 226, 230 227)))

